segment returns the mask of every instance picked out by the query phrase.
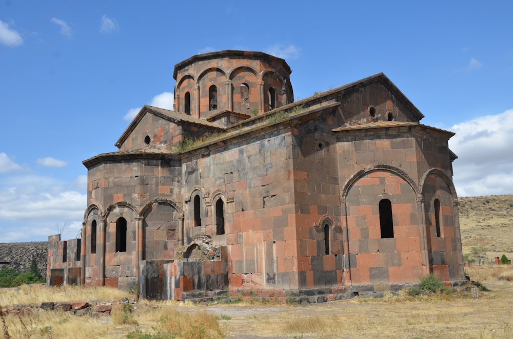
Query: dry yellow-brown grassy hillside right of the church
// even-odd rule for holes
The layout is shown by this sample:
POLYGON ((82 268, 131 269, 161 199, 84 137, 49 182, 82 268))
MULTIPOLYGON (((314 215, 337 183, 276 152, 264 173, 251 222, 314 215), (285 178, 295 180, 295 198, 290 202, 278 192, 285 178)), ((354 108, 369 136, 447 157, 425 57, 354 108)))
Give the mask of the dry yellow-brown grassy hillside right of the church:
POLYGON ((460 197, 463 252, 484 246, 488 258, 513 259, 513 195, 460 197))

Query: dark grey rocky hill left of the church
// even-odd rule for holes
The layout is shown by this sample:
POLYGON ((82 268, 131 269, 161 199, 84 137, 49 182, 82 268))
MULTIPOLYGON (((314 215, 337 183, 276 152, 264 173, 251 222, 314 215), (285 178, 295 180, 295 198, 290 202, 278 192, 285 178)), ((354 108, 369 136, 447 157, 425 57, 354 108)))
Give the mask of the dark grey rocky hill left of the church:
POLYGON ((12 268, 20 273, 28 272, 32 258, 35 258, 41 275, 46 277, 47 249, 46 241, 0 243, 0 262, 9 262, 9 264, 0 265, 0 269, 12 268))

